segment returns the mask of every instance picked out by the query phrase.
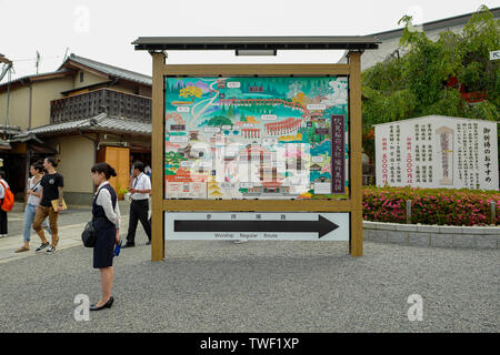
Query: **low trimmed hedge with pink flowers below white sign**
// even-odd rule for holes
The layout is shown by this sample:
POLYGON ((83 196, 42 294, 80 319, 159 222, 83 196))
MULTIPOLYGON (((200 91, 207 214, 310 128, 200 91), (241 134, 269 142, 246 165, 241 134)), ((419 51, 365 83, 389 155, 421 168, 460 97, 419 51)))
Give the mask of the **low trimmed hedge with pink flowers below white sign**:
POLYGON ((407 223, 408 200, 412 224, 500 224, 498 191, 376 186, 363 191, 364 221, 407 223), (496 221, 491 221, 491 201, 497 203, 496 221))

